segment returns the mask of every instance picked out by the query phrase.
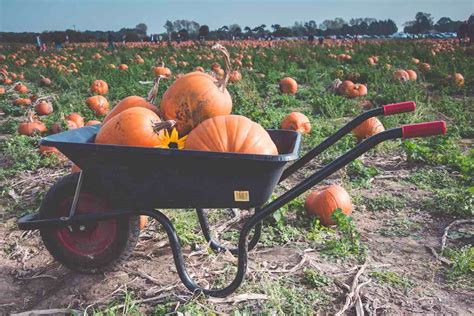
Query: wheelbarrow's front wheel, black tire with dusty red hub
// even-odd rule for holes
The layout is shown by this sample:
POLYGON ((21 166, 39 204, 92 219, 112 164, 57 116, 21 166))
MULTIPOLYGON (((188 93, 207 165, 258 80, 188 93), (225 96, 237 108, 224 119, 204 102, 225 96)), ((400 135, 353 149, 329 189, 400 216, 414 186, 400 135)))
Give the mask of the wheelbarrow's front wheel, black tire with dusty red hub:
MULTIPOLYGON (((41 218, 67 216, 79 174, 65 176, 48 191, 40 207, 41 218)), ((82 186, 76 214, 110 210, 107 199, 82 186)), ((71 270, 99 273, 120 265, 133 252, 140 234, 139 216, 120 217, 86 225, 40 229, 46 249, 71 270)))

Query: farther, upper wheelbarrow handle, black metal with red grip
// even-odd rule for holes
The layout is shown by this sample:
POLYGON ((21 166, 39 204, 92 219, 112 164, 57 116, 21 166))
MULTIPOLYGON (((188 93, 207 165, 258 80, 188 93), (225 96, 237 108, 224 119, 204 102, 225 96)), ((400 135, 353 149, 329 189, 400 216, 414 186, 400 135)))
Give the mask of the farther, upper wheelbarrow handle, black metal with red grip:
POLYGON ((293 164, 288 166, 288 168, 286 168, 283 171, 283 174, 280 178, 280 182, 282 182, 283 180, 288 178, 290 175, 292 175, 295 171, 299 170, 301 167, 306 165, 314 157, 318 156, 323 151, 328 149, 330 146, 336 143, 339 139, 349 134, 354 128, 359 126, 365 120, 371 117, 380 116, 380 115, 393 115, 393 114, 411 112, 411 111, 414 111, 415 108, 416 108, 415 102, 407 101, 407 102, 383 105, 379 108, 375 108, 375 109, 372 109, 360 114, 359 116, 354 118, 352 121, 350 121, 349 123, 341 127, 336 133, 326 138, 322 143, 320 143, 319 145, 317 145, 316 147, 308 151, 306 155, 304 155, 303 157, 295 161, 293 164))

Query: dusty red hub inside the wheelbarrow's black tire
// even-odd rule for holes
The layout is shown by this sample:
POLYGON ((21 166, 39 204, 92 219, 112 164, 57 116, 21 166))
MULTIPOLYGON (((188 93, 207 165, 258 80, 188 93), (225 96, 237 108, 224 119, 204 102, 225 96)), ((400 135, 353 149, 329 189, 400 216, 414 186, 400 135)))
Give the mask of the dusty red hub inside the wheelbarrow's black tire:
MULTIPOLYGON (((69 214, 73 197, 65 199, 58 210, 59 216, 69 214)), ((81 193, 77 203, 76 214, 90 214, 108 210, 106 200, 89 193, 81 193)), ((60 228, 56 231, 58 240, 64 247, 79 256, 96 256, 104 252, 115 240, 117 221, 107 220, 86 225, 75 225, 60 228)))

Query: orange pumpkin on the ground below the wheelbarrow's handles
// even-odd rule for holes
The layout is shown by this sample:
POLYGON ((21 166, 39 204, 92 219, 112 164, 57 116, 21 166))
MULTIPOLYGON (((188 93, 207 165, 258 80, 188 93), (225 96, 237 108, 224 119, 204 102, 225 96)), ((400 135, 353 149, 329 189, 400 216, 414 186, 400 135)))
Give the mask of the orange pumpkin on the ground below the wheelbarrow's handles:
POLYGON ((320 187, 306 198, 305 209, 308 215, 318 216, 321 224, 336 225, 332 214, 335 210, 341 209, 344 214, 349 215, 352 212, 351 197, 339 185, 320 187))

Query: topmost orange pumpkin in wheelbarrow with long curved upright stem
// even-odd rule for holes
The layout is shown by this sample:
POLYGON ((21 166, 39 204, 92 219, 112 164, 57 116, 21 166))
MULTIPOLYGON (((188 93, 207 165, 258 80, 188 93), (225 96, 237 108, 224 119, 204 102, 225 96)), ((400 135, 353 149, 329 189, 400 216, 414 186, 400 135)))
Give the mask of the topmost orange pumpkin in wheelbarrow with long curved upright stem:
POLYGON ((166 120, 175 120, 180 135, 189 133, 202 121, 232 112, 232 99, 226 89, 229 81, 230 59, 227 50, 216 44, 226 60, 222 80, 199 71, 177 79, 163 94, 161 111, 166 120))

